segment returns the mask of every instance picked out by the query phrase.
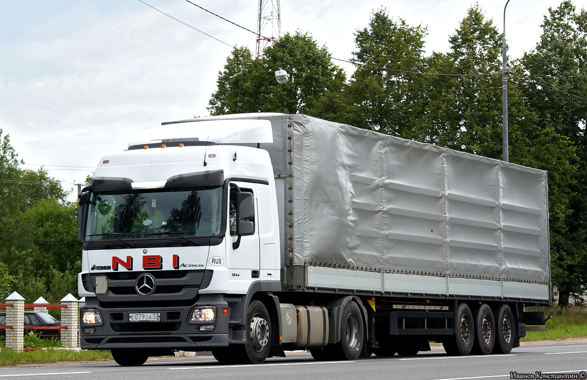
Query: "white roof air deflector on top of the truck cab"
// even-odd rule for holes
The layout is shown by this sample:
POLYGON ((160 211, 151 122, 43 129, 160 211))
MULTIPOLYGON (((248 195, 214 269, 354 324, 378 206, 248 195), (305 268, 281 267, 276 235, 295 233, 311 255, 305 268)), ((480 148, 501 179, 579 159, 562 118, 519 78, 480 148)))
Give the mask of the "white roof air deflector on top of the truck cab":
POLYGON ((202 120, 167 124, 140 130, 129 141, 129 147, 155 143, 203 141, 216 144, 273 143, 269 120, 202 120))

